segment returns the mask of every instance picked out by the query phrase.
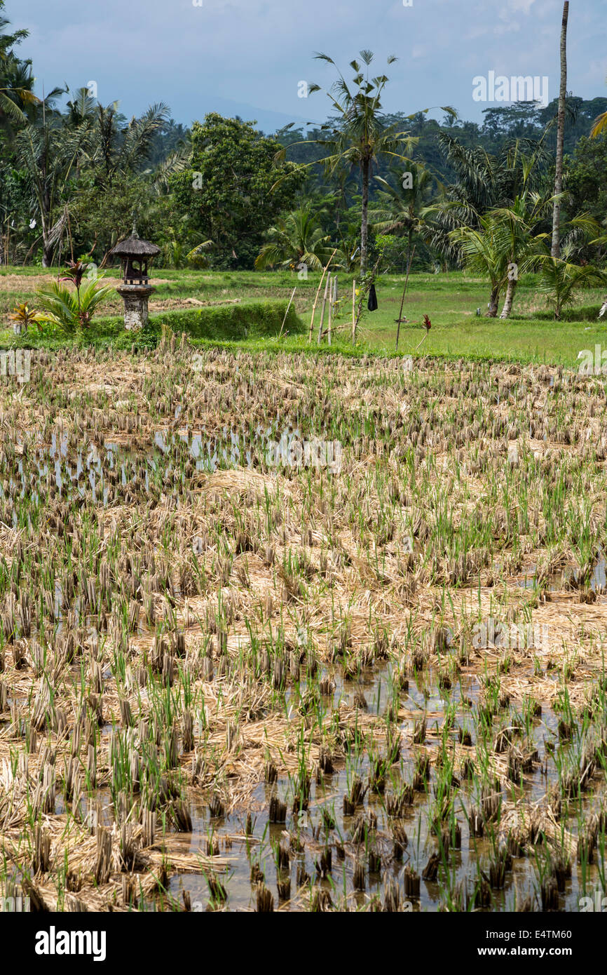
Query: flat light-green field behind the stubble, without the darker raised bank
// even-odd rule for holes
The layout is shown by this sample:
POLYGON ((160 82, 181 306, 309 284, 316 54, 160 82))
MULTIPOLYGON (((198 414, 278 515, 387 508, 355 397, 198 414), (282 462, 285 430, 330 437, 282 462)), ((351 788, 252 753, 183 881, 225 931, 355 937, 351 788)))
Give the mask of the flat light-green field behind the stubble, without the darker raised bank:
MULTIPOLYGON (((107 275, 106 283, 119 284, 116 269, 104 273, 107 275)), ((0 267, 0 345, 11 346, 16 341, 7 319, 15 305, 28 302, 35 307, 36 290, 48 285, 54 277, 57 278, 57 274, 41 268, 0 267)), ((260 273, 159 268, 154 269, 150 281, 155 288, 150 298, 150 315, 162 322, 163 317, 169 315, 209 307, 228 308, 239 303, 268 300, 288 302, 292 296, 292 308, 299 316, 304 332, 300 335, 283 333, 280 348, 308 351, 308 326, 320 281, 321 274, 317 272, 310 272, 305 280, 300 280, 296 273, 288 271, 260 273)), ((383 274, 378 279, 379 307, 374 312, 368 312, 363 307, 356 347, 351 342, 352 283, 351 274, 338 274, 339 300, 332 326, 332 347, 349 355, 366 351, 394 355, 397 351, 396 320, 400 314, 404 285, 402 275, 383 274)), ((400 326, 398 353, 536 362, 573 368, 581 351, 593 351, 596 344, 607 349, 607 319, 598 320, 598 311, 605 299, 603 292, 597 289, 579 292, 573 305, 564 310, 563 321, 555 324, 546 298, 538 293, 537 286, 536 276, 528 274, 521 277, 512 318, 504 323, 499 319, 484 318, 488 298, 485 281, 453 271, 448 274, 413 274, 402 306, 402 316, 406 321, 400 326), (479 315, 476 315, 477 310, 479 315), (432 320, 428 335, 422 327, 425 314, 432 320)), ((318 339, 321 306, 322 294, 316 310, 313 344, 318 339)), ((102 316, 117 316, 122 311, 123 302, 118 294, 112 294, 100 309, 102 316)), ((171 328, 178 333, 182 331, 174 323, 171 328)), ((116 331, 107 333, 95 325, 91 332, 89 340, 97 346, 116 344, 116 331)), ((219 338, 216 336, 217 342, 219 338)), ((21 336, 19 341, 23 340, 30 346, 60 347, 62 344, 33 330, 24 338, 21 336)), ((251 350, 263 349, 268 346, 267 337, 261 346, 252 339, 247 345, 251 350)), ((327 349, 326 339, 323 339, 320 348, 327 349)))

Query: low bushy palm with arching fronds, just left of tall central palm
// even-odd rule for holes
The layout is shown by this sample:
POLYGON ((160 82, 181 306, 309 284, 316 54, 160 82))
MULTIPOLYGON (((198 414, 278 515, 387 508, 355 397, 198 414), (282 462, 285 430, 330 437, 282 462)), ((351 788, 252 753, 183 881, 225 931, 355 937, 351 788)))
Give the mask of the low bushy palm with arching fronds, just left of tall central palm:
POLYGON ((306 206, 281 217, 267 232, 255 259, 255 268, 263 270, 277 264, 295 270, 305 265, 312 271, 322 270, 331 254, 330 239, 323 233, 312 207, 306 206))

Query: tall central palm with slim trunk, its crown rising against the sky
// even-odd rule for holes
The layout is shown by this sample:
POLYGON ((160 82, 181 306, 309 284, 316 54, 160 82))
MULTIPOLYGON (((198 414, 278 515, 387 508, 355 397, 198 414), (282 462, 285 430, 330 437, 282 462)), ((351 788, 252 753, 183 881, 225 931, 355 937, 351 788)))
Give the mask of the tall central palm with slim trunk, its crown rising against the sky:
MULTIPOLYGON (((317 59, 327 61, 334 67, 335 61, 328 55, 318 54, 317 59)), ((367 69, 373 60, 371 51, 360 51, 360 59, 367 69)), ((388 58, 388 64, 393 64, 397 58, 388 58)), ((319 162, 329 175, 336 170, 358 169, 362 188, 360 209, 360 273, 366 271, 368 254, 368 202, 369 184, 374 164, 382 158, 409 161, 404 150, 409 151, 416 141, 406 132, 399 132, 398 127, 389 125, 382 110, 381 98, 389 78, 379 74, 369 78, 358 60, 350 61, 350 67, 355 72, 352 86, 349 87, 343 74, 338 70, 339 77, 326 93, 336 112, 336 118, 322 125, 322 136, 316 141, 328 149, 328 155, 319 162)), ((310 93, 322 91, 320 85, 311 85, 310 93)), ((428 108, 425 109, 429 111, 428 108)), ((455 114, 455 110, 444 107, 443 111, 455 114)), ((409 116, 412 118, 412 116, 409 116)), ((285 157, 285 150, 279 153, 285 157)), ((317 166, 318 162, 307 163, 307 166, 317 166)))

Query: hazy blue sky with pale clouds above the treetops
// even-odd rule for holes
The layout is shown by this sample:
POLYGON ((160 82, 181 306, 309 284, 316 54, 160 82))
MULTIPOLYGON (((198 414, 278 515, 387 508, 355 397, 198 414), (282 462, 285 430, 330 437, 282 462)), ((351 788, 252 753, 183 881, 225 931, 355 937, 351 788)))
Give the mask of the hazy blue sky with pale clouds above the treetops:
MULTIPOLYGON (((27 27, 21 56, 33 60, 38 92, 96 82, 100 101, 127 115, 167 101, 189 124, 208 111, 257 119, 322 121, 328 99, 299 98, 301 81, 330 84, 329 54, 346 77, 361 48, 383 71, 398 57, 384 106, 413 112, 452 104, 480 121, 473 79, 548 76, 558 95, 562 0, 7 0, 6 16, 27 27), (411 6, 404 3, 411 2, 411 6)), ((568 89, 607 97, 607 4, 571 0, 568 89)), ((440 117, 441 113, 436 113, 440 117)))

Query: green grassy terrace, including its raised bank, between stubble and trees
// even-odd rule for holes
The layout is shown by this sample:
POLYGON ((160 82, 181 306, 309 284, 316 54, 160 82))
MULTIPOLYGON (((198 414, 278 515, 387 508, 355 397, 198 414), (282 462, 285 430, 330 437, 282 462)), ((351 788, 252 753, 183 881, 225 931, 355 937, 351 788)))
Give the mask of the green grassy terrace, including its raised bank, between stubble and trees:
MULTIPOLYGON (((0 344, 58 347, 69 340, 48 330, 30 330, 19 338, 9 322, 16 304, 36 305, 36 290, 57 272, 40 268, 0 268, 0 344)), ((118 283, 118 270, 106 278, 118 283)), ((404 279, 382 275, 376 286, 379 307, 367 312, 364 305, 356 345, 352 342, 353 275, 338 275, 340 307, 333 322, 331 346, 326 339, 318 345, 322 296, 319 299, 312 342, 308 330, 320 274, 299 280, 290 272, 200 271, 153 269, 150 299, 150 329, 145 336, 125 332, 122 299, 111 296, 103 315, 95 320, 85 343, 130 348, 133 339, 154 345, 163 326, 179 334, 186 331, 193 344, 282 350, 340 351, 353 355, 396 353, 396 333, 404 279), (284 313, 293 288, 291 310, 281 333, 284 313), (204 322, 203 325, 200 323, 204 322)), ((543 363, 574 367, 579 354, 595 345, 607 347, 607 320, 598 319, 604 294, 581 292, 574 304, 556 322, 536 279, 527 275, 518 284, 512 317, 507 321, 484 317, 488 284, 462 272, 415 274, 409 279, 402 309, 407 322, 401 324, 398 355, 437 356, 495 361, 543 363), (480 315, 476 310, 480 309, 480 315), (426 335, 423 316, 429 315, 432 329, 426 335), (425 337, 426 336, 426 337, 425 337)), ((326 321, 325 321, 326 325, 326 321)))

